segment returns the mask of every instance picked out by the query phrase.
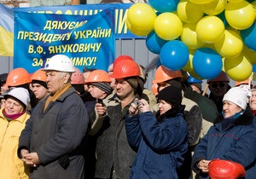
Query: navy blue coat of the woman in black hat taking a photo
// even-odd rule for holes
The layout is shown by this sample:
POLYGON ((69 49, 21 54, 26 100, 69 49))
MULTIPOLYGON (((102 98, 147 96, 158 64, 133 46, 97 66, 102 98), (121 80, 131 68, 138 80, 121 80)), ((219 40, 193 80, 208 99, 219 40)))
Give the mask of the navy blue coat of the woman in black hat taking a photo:
POLYGON ((183 107, 172 108, 160 116, 151 112, 126 115, 125 129, 129 144, 137 150, 130 178, 177 178, 177 168, 183 163, 188 149, 188 124, 183 107))

